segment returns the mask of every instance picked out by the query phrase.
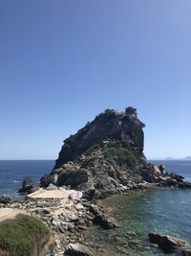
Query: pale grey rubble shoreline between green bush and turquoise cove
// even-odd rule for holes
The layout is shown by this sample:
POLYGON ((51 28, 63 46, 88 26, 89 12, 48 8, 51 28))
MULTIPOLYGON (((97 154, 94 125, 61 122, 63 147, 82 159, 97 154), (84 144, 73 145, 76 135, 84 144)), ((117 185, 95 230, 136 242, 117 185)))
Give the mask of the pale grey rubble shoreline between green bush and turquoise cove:
POLYGON ((50 227, 54 238, 53 244, 47 246, 46 255, 78 255, 77 252, 74 254, 74 250, 84 253, 81 255, 94 255, 94 244, 83 236, 83 230, 93 223, 104 229, 115 228, 117 221, 105 215, 96 201, 88 201, 77 195, 69 195, 64 202, 62 198, 27 197, 22 201, 4 200, 0 208, 25 210, 50 227))

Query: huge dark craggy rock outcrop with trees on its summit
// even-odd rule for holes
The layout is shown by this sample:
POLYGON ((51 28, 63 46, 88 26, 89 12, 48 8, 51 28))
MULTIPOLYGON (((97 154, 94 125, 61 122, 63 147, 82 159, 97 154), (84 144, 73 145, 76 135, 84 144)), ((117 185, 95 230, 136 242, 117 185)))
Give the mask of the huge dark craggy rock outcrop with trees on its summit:
POLYGON ((151 168, 142 152, 143 127, 133 107, 125 112, 105 110, 64 141, 42 185, 70 185, 100 193, 140 182, 151 168))

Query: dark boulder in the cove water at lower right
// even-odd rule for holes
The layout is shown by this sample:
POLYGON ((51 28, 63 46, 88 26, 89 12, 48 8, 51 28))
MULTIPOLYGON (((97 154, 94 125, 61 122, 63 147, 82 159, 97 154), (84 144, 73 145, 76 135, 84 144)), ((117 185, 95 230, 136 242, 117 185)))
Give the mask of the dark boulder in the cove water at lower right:
POLYGON ((149 239, 151 243, 158 244, 159 248, 165 252, 173 252, 187 245, 185 241, 178 238, 160 235, 154 232, 149 233, 149 239))

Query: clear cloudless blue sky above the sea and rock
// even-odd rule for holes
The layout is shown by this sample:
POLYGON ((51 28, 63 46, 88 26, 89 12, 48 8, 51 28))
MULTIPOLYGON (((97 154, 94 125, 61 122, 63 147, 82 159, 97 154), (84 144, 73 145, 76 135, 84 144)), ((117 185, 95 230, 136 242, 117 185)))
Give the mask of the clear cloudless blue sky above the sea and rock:
POLYGON ((105 108, 149 158, 191 155, 190 0, 0 0, 0 159, 55 159, 105 108))

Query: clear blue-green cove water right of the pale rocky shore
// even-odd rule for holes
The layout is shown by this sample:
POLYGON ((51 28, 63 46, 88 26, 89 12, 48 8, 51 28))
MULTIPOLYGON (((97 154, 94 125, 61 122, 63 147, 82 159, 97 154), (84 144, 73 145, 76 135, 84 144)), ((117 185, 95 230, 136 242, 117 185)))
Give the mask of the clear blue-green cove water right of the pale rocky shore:
MULTIPOLYGON (((186 240, 191 244, 191 191, 179 189, 154 189, 139 195, 107 198, 104 206, 110 209, 120 223, 115 231, 104 235, 126 237, 135 233, 146 251, 135 245, 128 248, 130 255, 164 255, 148 241, 150 231, 165 233, 186 240)), ((110 241, 110 244, 113 243, 110 241)), ((124 255, 124 254, 117 254, 124 255)), ((127 254, 128 255, 128 254, 127 254)))

